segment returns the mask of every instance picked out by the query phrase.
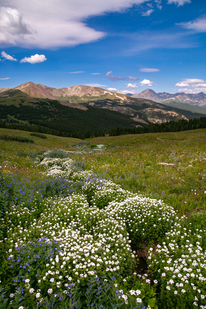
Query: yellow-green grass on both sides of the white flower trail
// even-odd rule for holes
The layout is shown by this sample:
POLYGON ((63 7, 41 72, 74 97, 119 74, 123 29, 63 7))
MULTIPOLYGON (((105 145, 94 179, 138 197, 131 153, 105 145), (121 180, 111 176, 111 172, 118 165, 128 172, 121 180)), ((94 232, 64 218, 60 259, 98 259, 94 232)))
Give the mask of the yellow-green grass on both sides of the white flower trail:
MULTIPOLYGON (((0 129, 0 134, 30 133, 0 129)), ((150 133, 90 139, 104 144, 105 150, 80 152, 73 145, 80 139, 47 135, 47 139, 32 137, 34 144, 0 139, 0 166, 3 172, 16 172, 22 177, 43 178, 34 157, 43 150, 72 150, 70 157, 84 161, 87 168, 103 174, 127 190, 161 198, 180 214, 205 209, 206 129, 179 133, 150 133)), ((84 141, 85 142, 85 141, 84 141)))

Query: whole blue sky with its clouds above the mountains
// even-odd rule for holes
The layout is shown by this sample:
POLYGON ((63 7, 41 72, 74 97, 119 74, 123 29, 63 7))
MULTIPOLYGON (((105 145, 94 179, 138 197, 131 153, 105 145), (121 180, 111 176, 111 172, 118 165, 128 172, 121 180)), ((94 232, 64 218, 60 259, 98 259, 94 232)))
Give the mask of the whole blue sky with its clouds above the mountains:
POLYGON ((1 0, 0 88, 206 93, 205 0, 1 0))

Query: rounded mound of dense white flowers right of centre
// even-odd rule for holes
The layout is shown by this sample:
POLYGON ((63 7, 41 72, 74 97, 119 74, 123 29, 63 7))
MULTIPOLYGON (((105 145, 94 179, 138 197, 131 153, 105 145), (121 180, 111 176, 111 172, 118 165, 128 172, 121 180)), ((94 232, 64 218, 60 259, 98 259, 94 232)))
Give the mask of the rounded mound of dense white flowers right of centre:
POLYGON ((122 202, 112 201, 105 211, 126 226, 133 241, 157 240, 179 220, 172 207, 140 194, 122 202))

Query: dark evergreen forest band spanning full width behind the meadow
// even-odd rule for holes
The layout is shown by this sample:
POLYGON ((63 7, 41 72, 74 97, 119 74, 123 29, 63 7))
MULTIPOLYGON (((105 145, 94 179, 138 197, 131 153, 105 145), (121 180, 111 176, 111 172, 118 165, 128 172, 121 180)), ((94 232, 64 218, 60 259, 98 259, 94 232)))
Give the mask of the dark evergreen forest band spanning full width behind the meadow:
POLYGON ((19 106, 0 104, 0 127, 79 139, 107 134, 116 136, 206 128, 206 117, 137 126, 137 122, 128 115, 105 108, 87 106, 87 111, 83 111, 62 105, 56 100, 27 101, 24 104, 19 102, 19 106))

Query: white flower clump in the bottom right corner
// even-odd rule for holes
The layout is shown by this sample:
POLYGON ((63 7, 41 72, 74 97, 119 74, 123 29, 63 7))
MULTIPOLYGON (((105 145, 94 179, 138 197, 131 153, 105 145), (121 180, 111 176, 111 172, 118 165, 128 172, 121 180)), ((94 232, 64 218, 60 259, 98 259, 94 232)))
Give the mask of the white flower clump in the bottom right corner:
POLYGON ((206 251, 201 247, 204 237, 205 231, 194 233, 190 227, 183 228, 178 224, 167 233, 165 242, 157 246, 154 258, 150 250, 150 271, 155 271, 174 305, 181 296, 185 304, 193 298, 194 306, 205 308, 206 251))

